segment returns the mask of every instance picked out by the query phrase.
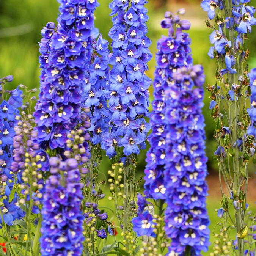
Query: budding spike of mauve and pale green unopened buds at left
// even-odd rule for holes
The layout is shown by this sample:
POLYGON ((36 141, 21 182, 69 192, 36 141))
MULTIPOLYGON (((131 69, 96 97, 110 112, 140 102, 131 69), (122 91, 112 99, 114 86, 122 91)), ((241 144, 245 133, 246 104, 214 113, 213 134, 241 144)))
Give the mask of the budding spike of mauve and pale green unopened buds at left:
POLYGON ((13 162, 11 163, 13 183, 20 184, 20 195, 22 195, 20 201, 29 205, 30 199, 33 199, 33 205, 29 207, 32 207, 32 213, 38 214, 44 191, 42 175, 49 170, 49 157, 36 141, 37 131, 33 127, 33 116, 22 112, 22 116, 17 119, 19 121, 14 128, 16 135, 13 138, 13 162))

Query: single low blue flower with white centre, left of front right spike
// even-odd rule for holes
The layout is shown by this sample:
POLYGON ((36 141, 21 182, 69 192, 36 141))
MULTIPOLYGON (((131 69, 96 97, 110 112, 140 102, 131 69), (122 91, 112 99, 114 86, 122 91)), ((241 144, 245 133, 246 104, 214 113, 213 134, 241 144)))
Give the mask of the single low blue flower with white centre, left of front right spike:
POLYGON ((152 220, 153 217, 148 211, 139 214, 138 217, 132 219, 133 230, 138 236, 155 236, 152 228, 152 220))

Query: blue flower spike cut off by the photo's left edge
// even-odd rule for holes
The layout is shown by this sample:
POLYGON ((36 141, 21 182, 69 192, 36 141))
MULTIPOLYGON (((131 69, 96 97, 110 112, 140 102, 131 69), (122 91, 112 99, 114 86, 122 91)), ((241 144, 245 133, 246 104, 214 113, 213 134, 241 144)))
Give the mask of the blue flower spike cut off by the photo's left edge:
MULTIPOLYGON (((19 86, 11 91, 5 90, 5 84, 12 80, 11 75, 0 78, 0 202, 2 203, 0 211, 6 225, 12 225, 14 220, 25 215, 19 207, 17 193, 9 197, 16 184, 22 182, 21 173, 14 174, 11 168, 15 148, 14 128, 18 123, 17 117, 20 117, 18 108, 22 106, 22 91, 19 86)), ((2 218, 0 218, 0 228, 2 228, 2 218)))

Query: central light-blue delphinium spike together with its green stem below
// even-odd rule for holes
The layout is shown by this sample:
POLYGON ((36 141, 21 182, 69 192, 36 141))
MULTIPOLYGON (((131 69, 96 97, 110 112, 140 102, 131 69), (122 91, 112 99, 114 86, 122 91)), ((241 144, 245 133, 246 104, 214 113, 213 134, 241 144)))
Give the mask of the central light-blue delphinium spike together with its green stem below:
MULTIPOLYGON (((119 191, 122 195, 120 224, 123 236, 129 238, 132 238, 130 225, 132 214, 129 211, 133 208, 130 203, 135 200, 137 182, 134 177, 137 154, 141 149, 146 148, 145 140, 150 129, 145 120, 145 117, 148 117, 148 88, 151 85, 151 79, 146 76, 145 71, 148 70, 147 63, 152 58, 149 51, 151 40, 146 36, 148 33, 146 21, 149 18, 146 15, 148 12, 145 8, 146 3, 148 2, 144 0, 113 0, 110 3, 112 10, 110 15, 115 15, 112 18, 113 27, 109 32, 112 39, 109 63, 112 69, 109 72, 109 83, 104 91, 105 97, 109 100, 110 132, 103 135, 102 143, 107 155, 116 157, 117 161, 120 159, 123 164, 119 168, 123 170, 121 172, 124 177, 123 187, 117 184, 118 188, 115 192, 119 191)), ((116 182, 121 180, 120 177, 122 176, 117 175, 116 182)), ((110 188, 112 187, 110 179, 110 188)), ((113 194, 113 196, 118 195, 113 194)), ((115 204, 118 209, 117 202, 115 204)), ((132 242, 136 243, 133 240, 132 242)), ((134 253, 133 247, 128 239, 125 250, 134 253)))

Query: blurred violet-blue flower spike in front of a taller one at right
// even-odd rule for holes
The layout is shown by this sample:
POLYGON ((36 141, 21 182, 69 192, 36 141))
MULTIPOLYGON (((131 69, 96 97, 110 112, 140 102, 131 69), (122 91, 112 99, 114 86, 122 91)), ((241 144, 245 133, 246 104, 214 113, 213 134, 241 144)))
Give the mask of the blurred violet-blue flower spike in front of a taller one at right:
POLYGON ((166 97, 165 230, 171 255, 200 255, 209 246, 206 210, 207 157, 203 107, 203 67, 177 69, 166 97))

